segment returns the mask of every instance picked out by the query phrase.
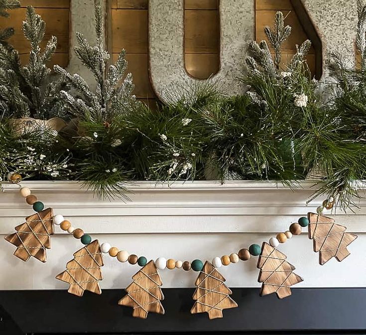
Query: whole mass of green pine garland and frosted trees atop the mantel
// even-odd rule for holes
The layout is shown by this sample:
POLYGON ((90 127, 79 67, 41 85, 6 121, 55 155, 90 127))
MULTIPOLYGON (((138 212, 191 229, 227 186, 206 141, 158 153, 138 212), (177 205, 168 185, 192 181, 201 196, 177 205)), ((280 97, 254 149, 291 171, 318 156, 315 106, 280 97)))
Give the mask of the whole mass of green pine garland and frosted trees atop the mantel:
POLYGON ((0 71, 3 114, 19 117, 22 111, 21 116, 47 119, 56 106, 56 115, 73 119, 56 136, 47 130, 19 136, 3 118, 0 175, 18 171, 33 179, 77 179, 99 196, 125 199, 128 184, 137 180, 275 179, 295 188, 299 180, 316 176, 314 197, 334 197, 343 209, 355 206, 366 179, 366 7, 361 0, 358 5, 361 68, 348 68, 332 54, 328 67, 335 83, 327 97, 321 93, 324 83, 312 77, 306 63, 310 41, 297 47, 286 67, 281 64, 291 27, 277 12, 273 29, 265 28, 269 45, 249 46, 237 78, 248 87, 245 94, 229 96, 220 82, 203 81, 172 86, 168 103, 155 108, 133 96, 124 50, 110 65, 100 0, 95 0, 95 45, 78 33, 75 48, 93 73, 96 90, 59 66, 54 68, 59 78, 50 79, 57 92, 40 90, 51 75, 44 61, 56 41, 51 38, 40 52, 45 26, 29 7, 23 27, 32 45, 29 64, 20 67, 16 51, 0 46, 0 62, 6 65, 0 71))

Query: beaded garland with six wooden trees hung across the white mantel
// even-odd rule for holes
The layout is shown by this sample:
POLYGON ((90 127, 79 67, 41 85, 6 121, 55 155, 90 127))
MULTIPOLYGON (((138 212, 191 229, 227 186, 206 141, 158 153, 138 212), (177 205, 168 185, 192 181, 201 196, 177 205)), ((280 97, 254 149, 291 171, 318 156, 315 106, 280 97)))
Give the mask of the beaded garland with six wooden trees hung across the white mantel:
MULTIPOLYGON (((13 183, 21 182, 21 176, 17 173, 10 173, 8 178, 13 183)), ((43 202, 28 187, 21 187, 20 194, 36 213, 16 226, 15 233, 5 237, 6 241, 16 246, 14 256, 23 261, 34 257, 46 262, 46 249, 51 247, 54 225, 80 239, 85 246, 74 253, 74 258, 66 264, 66 270, 56 276, 56 279, 69 284, 69 293, 79 297, 85 290, 102 294, 99 282, 103 280, 103 254, 116 257, 122 263, 128 261, 129 264, 138 264, 141 269, 132 277, 132 283, 125 289, 126 295, 118 304, 132 308, 132 316, 142 319, 146 319, 149 312, 164 314, 161 303, 164 299, 161 291, 163 283, 158 270, 183 268, 184 271, 199 272, 195 283, 197 289, 193 295, 196 302, 191 313, 208 313, 210 319, 222 318, 224 309, 238 305, 230 297, 232 292, 224 284, 225 278, 218 271, 221 266, 258 257, 258 282, 262 283, 260 295, 275 293, 282 299, 290 296, 291 287, 303 279, 293 272, 295 267, 287 262, 286 255, 277 250, 279 244, 285 243, 293 235, 301 234, 302 229, 308 227, 309 239, 313 239, 314 251, 319 252, 319 263, 323 265, 333 257, 339 262, 343 261, 350 255, 348 245, 357 238, 357 235, 347 233, 346 227, 336 224, 334 219, 322 215, 324 208, 331 209, 334 205, 334 199, 327 199, 318 208, 317 214, 308 213, 307 217, 300 217, 297 223, 290 225, 289 230, 271 237, 262 246, 252 244, 230 256, 214 257, 205 262, 201 259, 182 262, 163 257, 148 261, 144 256, 129 254, 112 247, 108 242, 100 245, 98 240, 93 241, 82 229, 74 228, 63 215, 54 215, 52 208, 44 209, 43 202)))

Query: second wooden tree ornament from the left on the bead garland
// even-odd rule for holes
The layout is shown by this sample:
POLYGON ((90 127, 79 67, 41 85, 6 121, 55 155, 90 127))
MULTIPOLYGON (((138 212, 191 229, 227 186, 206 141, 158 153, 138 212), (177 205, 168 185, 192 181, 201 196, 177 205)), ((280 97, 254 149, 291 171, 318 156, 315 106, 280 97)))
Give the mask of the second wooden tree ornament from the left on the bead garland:
POLYGON ((66 264, 66 271, 56 279, 69 283, 68 292, 81 297, 85 290, 101 294, 99 281, 103 279, 101 267, 104 265, 99 241, 95 240, 74 253, 74 259, 66 264))

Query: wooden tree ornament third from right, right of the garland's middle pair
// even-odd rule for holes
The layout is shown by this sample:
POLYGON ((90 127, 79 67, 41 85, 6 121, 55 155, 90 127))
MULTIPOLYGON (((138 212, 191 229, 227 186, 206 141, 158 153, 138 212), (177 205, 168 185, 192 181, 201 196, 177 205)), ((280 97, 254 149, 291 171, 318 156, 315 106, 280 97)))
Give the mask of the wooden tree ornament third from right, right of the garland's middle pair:
POLYGON ((224 284, 226 279, 210 263, 205 263, 195 285, 197 289, 193 295, 196 300, 191 313, 207 312, 210 319, 222 318, 223 310, 238 307, 229 297, 232 291, 224 284))

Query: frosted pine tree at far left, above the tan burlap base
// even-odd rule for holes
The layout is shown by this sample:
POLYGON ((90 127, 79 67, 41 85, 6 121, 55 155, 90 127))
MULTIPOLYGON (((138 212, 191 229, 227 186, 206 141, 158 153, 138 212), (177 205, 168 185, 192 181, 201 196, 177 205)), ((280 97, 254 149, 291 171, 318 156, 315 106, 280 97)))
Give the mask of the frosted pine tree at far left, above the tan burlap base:
POLYGON ((28 64, 22 66, 18 51, 0 44, 0 101, 5 106, 5 116, 40 119, 65 116, 59 99, 65 84, 54 79, 46 66, 56 50, 57 38, 52 36, 42 50, 40 43, 45 31, 41 16, 28 6, 23 21, 23 33, 30 44, 28 64))

